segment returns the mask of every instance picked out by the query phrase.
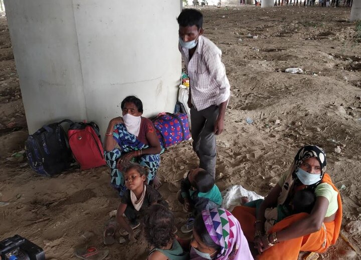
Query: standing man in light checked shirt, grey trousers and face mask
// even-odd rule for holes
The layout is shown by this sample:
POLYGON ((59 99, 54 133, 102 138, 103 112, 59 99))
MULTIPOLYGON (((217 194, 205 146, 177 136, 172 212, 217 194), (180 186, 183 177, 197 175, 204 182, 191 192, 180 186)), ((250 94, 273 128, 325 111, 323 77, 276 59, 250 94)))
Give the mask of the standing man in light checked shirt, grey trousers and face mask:
POLYGON ((203 35, 203 15, 185 9, 177 18, 179 51, 190 77, 193 149, 200 168, 216 175, 216 136, 222 133, 230 84, 221 61, 221 50, 203 35))

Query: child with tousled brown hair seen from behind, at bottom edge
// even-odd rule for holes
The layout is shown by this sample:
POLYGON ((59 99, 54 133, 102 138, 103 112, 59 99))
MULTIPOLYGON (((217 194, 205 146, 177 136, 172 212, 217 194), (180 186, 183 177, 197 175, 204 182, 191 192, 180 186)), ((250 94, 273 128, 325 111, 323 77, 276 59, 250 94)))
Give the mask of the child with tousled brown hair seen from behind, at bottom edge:
POLYGON ((151 246, 148 260, 186 260, 188 253, 174 236, 174 216, 160 204, 151 205, 142 218, 144 237, 151 246))

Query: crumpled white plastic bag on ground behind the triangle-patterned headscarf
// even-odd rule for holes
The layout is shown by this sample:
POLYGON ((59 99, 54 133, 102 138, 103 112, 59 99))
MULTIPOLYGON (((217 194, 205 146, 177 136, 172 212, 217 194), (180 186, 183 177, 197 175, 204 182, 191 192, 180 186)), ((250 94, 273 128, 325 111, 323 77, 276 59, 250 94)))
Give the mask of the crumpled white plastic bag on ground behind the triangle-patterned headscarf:
POLYGON ((264 199, 254 191, 246 190, 241 185, 233 185, 222 191, 222 207, 232 211, 235 206, 242 205, 241 198, 247 197, 249 201, 264 199))

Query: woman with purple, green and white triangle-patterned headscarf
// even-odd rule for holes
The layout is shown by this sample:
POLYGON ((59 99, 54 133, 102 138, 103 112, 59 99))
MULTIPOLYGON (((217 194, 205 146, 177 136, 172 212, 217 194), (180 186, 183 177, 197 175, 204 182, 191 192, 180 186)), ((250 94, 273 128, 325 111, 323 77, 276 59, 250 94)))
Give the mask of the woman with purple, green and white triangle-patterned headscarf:
MULTIPOLYGON (((179 239, 184 248, 187 242, 179 239)), ((224 208, 203 210, 196 217, 191 245, 191 260, 253 260, 237 219, 224 208)))

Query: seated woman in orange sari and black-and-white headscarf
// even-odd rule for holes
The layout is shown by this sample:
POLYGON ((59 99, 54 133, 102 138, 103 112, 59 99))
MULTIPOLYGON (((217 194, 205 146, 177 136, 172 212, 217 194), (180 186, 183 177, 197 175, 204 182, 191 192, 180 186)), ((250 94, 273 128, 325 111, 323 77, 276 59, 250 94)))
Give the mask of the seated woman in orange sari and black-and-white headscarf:
POLYGON ((239 220, 247 240, 254 242, 260 253, 258 259, 297 259, 299 251, 322 253, 336 242, 342 221, 342 204, 336 187, 325 173, 325 166, 326 155, 321 148, 304 146, 296 154, 289 172, 281 177, 258 210, 247 206, 234 208, 232 213, 239 220), (289 205, 294 194, 302 189, 312 191, 316 197, 310 214, 293 214, 265 233, 266 209, 289 205))

